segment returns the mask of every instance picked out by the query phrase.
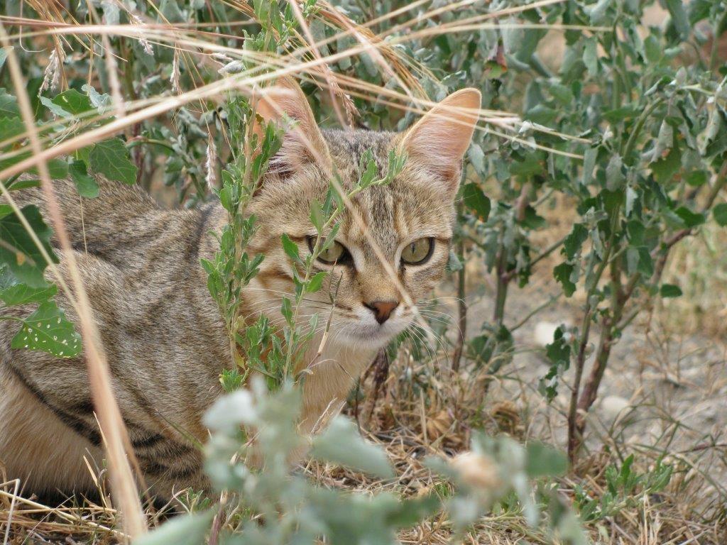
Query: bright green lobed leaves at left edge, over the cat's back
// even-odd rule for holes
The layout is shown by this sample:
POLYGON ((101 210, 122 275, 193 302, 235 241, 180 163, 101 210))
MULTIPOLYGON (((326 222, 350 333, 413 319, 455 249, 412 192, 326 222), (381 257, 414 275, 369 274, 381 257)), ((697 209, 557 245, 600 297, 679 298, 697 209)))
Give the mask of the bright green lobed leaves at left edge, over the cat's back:
MULTIPOLYGON (((68 89, 52 100, 40 97, 39 115, 44 113, 53 118, 73 118, 74 121, 69 130, 52 122, 44 123, 39 118, 36 126, 39 136, 61 142, 81 127, 90 129, 111 121, 111 118, 105 121, 97 119, 105 112, 108 94, 99 94, 88 85, 84 85, 84 91, 86 94, 68 89)), ((0 169, 6 169, 28 158, 30 152, 28 146, 23 145, 28 135, 20 119, 17 100, 4 89, 0 93, 5 97, 4 114, 7 114, 0 119, 0 169)), ((79 195, 87 198, 98 194, 98 186, 89 174, 89 167, 93 174, 111 180, 128 184, 136 182, 136 167, 129 160, 124 143, 116 137, 81 148, 71 157, 52 159, 47 166, 52 179, 70 176, 79 195)), ((36 169, 30 169, 23 177, 15 175, 0 180, 0 183, 2 193, 12 195, 13 191, 40 185, 40 179, 36 169)), ((58 262, 50 245, 52 229, 41 217, 37 206, 25 206, 19 212, 17 214, 7 203, 0 205, 0 272, 4 286, 0 299, 6 307, 38 304, 38 308, 23 319, 0 315, 0 320, 16 320, 21 324, 12 339, 12 348, 43 350, 63 358, 79 355, 81 336, 65 318, 65 312, 52 301, 57 289, 45 278, 49 262, 58 262)))

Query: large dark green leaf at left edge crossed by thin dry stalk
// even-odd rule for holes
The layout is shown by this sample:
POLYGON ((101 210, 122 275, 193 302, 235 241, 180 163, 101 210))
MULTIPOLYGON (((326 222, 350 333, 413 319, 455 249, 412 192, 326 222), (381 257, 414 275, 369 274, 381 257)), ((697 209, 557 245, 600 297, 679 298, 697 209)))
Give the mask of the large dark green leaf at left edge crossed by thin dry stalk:
MULTIPOLYGON (((57 263, 58 259, 50 246, 52 229, 43 221, 38 207, 28 205, 21 211, 53 262, 57 263)), ((47 286, 43 279, 47 263, 15 214, 7 214, 0 218, 0 242, 0 263, 7 264, 19 282, 33 288, 47 286)))

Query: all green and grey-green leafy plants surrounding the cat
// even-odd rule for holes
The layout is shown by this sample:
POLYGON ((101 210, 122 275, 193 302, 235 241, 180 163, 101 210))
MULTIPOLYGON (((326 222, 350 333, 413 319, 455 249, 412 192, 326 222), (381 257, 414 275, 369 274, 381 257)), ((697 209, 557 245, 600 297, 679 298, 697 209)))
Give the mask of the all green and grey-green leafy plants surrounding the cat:
MULTIPOLYGON (((24 63, 39 134, 55 144, 111 123, 118 112, 112 97, 115 85, 135 107, 158 97, 181 96, 185 89, 202 88, 220 75, 228 81, 264 75, 276 68, 271 59, 290 62, 316 57, 311 52, 300 53, 306 33, 290 3, 252 0, 241 4, 242 12, 225 3, 208 6, 196 0, 164 0, 158 7, 126 0, 73 6, 70 15, 76 20, 97 18, 108 24, 133 26, 143 17, 154 23, 206 25, 219 32, 219 48, 205 53, 209 62, 201 65, 186 46, 177 47, 177 40, 184 39, 181 34, 155 35, 158 43, 153 44, 139 35, 111 36, 111 45, 126 60, 123 77, 113 84, 100 39, 76 36, 74 52, 84 48, 87 52, 73 56, 66 55, 67 41, 56 40, 55 68, 52 59, 49 70, 37 63, 24 63), (240 31, 233 23, 241 15, 254 24, 240 31)), ((459 296, 464 299, 464 264, 478 259, 492 273, 496 288, 493 319, 461 347, 462 368, 485 367, 496 374, 510 362, 515 350, 513 332, 530 316, 524 320, 511 316, 508 294, 515 286, 526 286, 539 267, 557 256, 558 263, 548 272, 560 286, 558 296, 579 299, 583 310, 577 326, 561 326, 547 345, 549 368, 539 391, 549 403, 559 392, 569 392, 568 449, 571 461, 576 461, 585 433, 585 415, 598 395, 611 347, 635 320, 646 299, 682 295, 683 286, 662 280, 670 250, 707 222, 727 225, 727 203, 721 202, 727 173, 727 65, 720 65, 717 39, 705 51, 709 41, 704 33, 705 26, 716 37, 726 30, 727 7, 723 0, 695 0, 686 5, 667 0, 664 7, 670 19, 657 28, 640 24, 644 9, 653 2, 570 0, 542 4, 537 9, 524 9, 520 1, 473 2, 456 10, 444 9, 446 2, 417 7, 409 4, 401 0, 344 0, 337 7, 361 23, 379 20, 377 33, 389 36, 399 62, 422 94, 441 100, 462 86, 476 86, 483 92, 483 108, 503 112, 493 116, 493 122, 475 137, 467 153, 460 191, 462 204, 450 273, 457 277, 459 296), (404 11, 398 17, 385 17, 397 9, 404 11), (429 13, 432 9, 438 10, 435 17, 429 13), (497 9, 510 12, 488 19, 497 9), (469 20, 480 24, 467 28, 458 23, 469 20), (541 24, 560 26, 565 47, 562 62, 542 57, 539 44, 547 28, 540 28, 541 24), (515 115, 507 112, 517 113, 519 120, 512 121, 515 115), (510 121, 504 121, 507 119, 510 121), (540 245, 537 232, 548 227, 543 209, 555 201, 566 202, 573 209, 573 225, 563 238, 540 245), (594 331, 600 336, 596 343, 594 331), (594 362, 590 374, 586 374, 587 358, 594 362), (569 368, 574 371, 574 383, 564 388, 563 377, 569 368)), ((399 79, 383 69, 378 56, 365 48, 356 55, 338 55, 357 47, 357 37, 342 34, 341 28, 321 15, 327 4, 306 0, 297 5, 319 42, 320 54, 337 55, 328 68, 376 86, 363 92, 356 86, 345 89, 358 111, 356 123, 369 129, 409 126, 417 116, 417 102, 411 101, 407 105, 410 110, 399 112, 390 107, 385 91, 415 97, 417 89, 403 93, 399 79), (372 88, 381 92, 379 96, 372 96, 372 88)), ((9 1, 7 7, 8 13, 19 15, 19 2, 9 1)), ((0 68, 7 56, 6 49, 1 51, 0 68)), ((20 48, 15 53, 21 59, 31 58, 20 48)), ((325 71, 324 76, 313 75, 320 80, 325 71)), ((0 83, 6 87, 0 89, 3 170, 30 152, 7 70, 0 73, 0 83)), ((318 118, 331 118, 334 111, 326 92, 318 92, 310 81, 305 83, 305 90, 311 94, 318 118)), ((294 538, 310 542, 324 535, 333 543, 365 539, 387 542, 394 539, 396 529, 430 516, 442 505, 452 515, 457 536, 462 536, 481 514, 508 505, 524 512, 531 523, 542 522, 533 497, 547 506, 550 514, 562 515, 553 515, 549 524, 559 528, 564 539, 577 542, 579 531, 573 529, 567 509, 558 507, 560 500, 549 493, 532 496, 528 484, 529 479, 562 472, 562 460, 547 449, 523 448, 502 437, 475 433, 470 445, 479 458, 469 462, 479 469, 483 463, 491 464, 489 488, 477 489, 462 482, 458 473, 462 466, 457 469, 454 462, 431 463, 435 471, 458 484, 454 496, 446 498, 409 500, 388 494, 364 498, 325 491, 300 475, 291 475, 287 455, 300 446, 300 438, 292 429, 297 393, 289 385, 300 377, 292 376, 292 370, 319 327, 318 320, 326 318, 314 316, 308 323, 298 323, 302 299, 317 291, 323 280, 321 275, 310 274, 310 265, 332 243, 345 198, 369 185, 390 181, 404 158, 391 157, 392 171, 376 179, 371 156, 364 155, 364 174, 349 195, 343 195, 340 184, 332 180, 324 203, 313 203, 310 211, 318 232, 313 252, 302 256, 292 241, 285 237, 281 241, 297 263, 295 296, 284 299, 281 309, 284 325, 277 330, 265 318, 246 324, 238 313, 242 289, 264 259, 246 252, 255 229, 255 219, 246 214, 246 208, 268 160, 280 145, 280 134, 272 126, 258 142, 250 129, 253 118, 249 102, 233 92, 221 103, 206 98, 180 101, 169 113, 127 128, 124 137, 91 143, 71 157, 49 162, 52 177, 70 176, 83 198, 98 194, 95 175, 147 184, 158 174, 173 187, 183 206, 219 198, 228 211, 229 224, 220 235, 220 251, 202 266, 230 336, 230 362, 221 370, 220 378, 230 396, 220 400, 207 416, 214 430, 207 453, 209 475, 217 488, 232 493, 225 507, 234 505, 244 514, 236 521, 236 529, 243 533, 229 536, 229 542, 287 543, 294 538), (248 382, 250 371, 265 379, 265 387, 258 385, 253 393, 239 390, 248 382), (256 448, 269 461, 260 472, 243 463, 245 456, 254 453, 245 443, 241 427, 260 432, 256 448), (531 467, 534 460, 539 464, 531 467)), ((4 193, 10 194, 39 183, 34 171, 28 177, 1 181, 4 193)), ((32 341, 27 343, 29 349, 62 355, 70 342, 80 350, 77 334, 52 302, 55 290, 44 280, 47 261, 57 261, 49 246, 51 230, 37 209, 23 209, 23 217, 38 241, 29 235, 15 211, 5 205, 0 209, 0 240, 4 243, 0 245, 4 279, 0 298, 8 307, 38 305, 20 325, 14 346, 25 347, 28 334, 32 341), (61 343, 66 340, 63 346, 36 342, 33 335, 39 326, 52 326, 52 320, 59 320, 57 335, 53 336, 61 343), (20 335, 22 343, 17 340, 20 335)), ((466 318, 464 307, 461 312, 466 318)), ((436 331, 449 326, 432 321, 436 331)), ((390 354, 395 355, 401 344, 410 349, 415 360, 428 358, 430 348, 424 334, 414 330, 401 336, 390 347, 390 354)), ((441 342, 448 341, 443 338, 441 342)), ((354 434, 348 421, 334 421, 315 441, 313 453, 322 459, 390 477, 385 457, 354 434), (350 449, 342 450, 341 444, 350 449)), ((671 475, 666 464, 659 464, 648 475, 631 468, 632 458, 621 467, 610 467, 607 491, 598 498, 593 491, 578 489, 576 505, 582 520, 615 516, 630 502, 662 491, 671 475)), ((545 485, 539 487, 541 492, 545 489, 545 485)), ((198 541, 198 536, 204 536, 202 528, 208 528, 215 516, 211 513, 169 522, 144 542, 178 539, 169 536, 198 541)))

